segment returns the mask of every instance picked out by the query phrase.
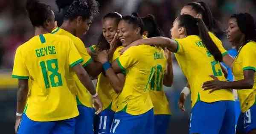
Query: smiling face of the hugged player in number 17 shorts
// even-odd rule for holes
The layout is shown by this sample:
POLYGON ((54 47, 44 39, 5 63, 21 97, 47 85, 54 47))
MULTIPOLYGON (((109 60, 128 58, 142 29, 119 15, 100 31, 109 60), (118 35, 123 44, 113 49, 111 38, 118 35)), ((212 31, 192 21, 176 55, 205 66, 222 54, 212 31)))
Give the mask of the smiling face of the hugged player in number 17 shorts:
POLYGON ((140 28, 121 20, 118 24, 117 33, 122 46, 128 46, 135 40, 140 39, 140 28))

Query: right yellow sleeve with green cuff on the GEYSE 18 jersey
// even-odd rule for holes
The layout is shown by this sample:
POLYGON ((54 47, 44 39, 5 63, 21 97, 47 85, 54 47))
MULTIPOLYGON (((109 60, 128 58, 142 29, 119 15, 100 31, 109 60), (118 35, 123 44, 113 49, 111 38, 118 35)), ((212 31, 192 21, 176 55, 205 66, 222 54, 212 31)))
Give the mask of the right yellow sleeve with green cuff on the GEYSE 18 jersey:
POLYGON ((84 60, 80 56, 79 52, 77 51, 74 43, 72 40, 69 40, 69 50, 68 50, 68 62, 71 68, 76 66, 79 63, 82 63, 84 60))

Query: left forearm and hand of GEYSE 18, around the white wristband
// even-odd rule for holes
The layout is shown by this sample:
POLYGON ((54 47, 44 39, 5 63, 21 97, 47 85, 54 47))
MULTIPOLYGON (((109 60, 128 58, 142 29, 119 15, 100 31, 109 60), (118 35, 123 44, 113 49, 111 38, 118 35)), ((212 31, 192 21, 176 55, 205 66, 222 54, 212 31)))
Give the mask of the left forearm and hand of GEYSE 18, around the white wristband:
MULTIPOLYGON (((19 87, 17 90, 17 113, 23 113, 26 99, 29 91, 28 79, 19 79, 19 87)), ((15 133, 18 131, 18 126, 20 125, 21 116, 16 116, 15 121, 15 133)))

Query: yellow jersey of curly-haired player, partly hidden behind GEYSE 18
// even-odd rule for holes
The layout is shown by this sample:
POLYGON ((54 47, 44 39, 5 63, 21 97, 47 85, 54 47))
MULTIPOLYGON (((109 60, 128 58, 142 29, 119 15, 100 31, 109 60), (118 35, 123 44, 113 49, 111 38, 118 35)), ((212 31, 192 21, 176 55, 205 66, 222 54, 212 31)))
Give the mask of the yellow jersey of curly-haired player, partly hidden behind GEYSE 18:
MULTIPOLYGON (((87 53, 87 49, 84 46, 84 43, 80 40, 79 37, 74 36, 68 31, 65 31, 64 29, 57 28, 52 31, 53 34, 58 35, 65 35, 67 37, 70 37, 70 39, 75 44, 79 54, 83 58, 83 62, 81 63, 83 67, 90 64, 93 59, 90 57, 90 55, 87 53)), ((79 78, 76 74, 73 74, 74 81, 70 82, 70 88, 73 89, 73 93, 76 94, 76 100, 78 105, 85 105, 89 108, 93 107, 92 102, 92 96, 90 92, 84 87, 84 85, 80 82, 79 78)))

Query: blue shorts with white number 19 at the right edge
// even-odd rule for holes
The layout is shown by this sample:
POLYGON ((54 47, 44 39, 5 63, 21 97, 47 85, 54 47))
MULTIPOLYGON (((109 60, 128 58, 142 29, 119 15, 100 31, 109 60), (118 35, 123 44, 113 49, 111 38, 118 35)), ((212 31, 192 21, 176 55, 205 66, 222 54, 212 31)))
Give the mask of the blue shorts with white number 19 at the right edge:
POLYGON ((236 131, 242 134, 247 134, 253 129, 256 129, 256 104, 240 114, 236 127, 236 131))

